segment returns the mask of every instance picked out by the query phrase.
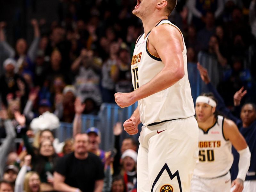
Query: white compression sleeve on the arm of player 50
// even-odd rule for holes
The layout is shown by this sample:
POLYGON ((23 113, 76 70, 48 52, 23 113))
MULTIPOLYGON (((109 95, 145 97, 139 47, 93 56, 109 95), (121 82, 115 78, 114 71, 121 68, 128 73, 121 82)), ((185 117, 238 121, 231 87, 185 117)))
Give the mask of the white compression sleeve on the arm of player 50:
POLYGON ((238 163, 238 174, 236 178, 239 178, 244 181, 246 177, 246 173, 248 172, 248 169, 250 167, 251 152, 248 146, 247 148, 237 152, 239 153, 239 163, 238 163))

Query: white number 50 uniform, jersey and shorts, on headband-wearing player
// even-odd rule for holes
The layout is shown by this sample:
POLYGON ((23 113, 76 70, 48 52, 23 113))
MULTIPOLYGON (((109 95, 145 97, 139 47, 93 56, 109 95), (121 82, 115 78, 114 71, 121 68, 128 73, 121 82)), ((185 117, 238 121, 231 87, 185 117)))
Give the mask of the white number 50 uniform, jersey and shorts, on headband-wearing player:
POLYGON ((229 192, 229 169, 233 163, 232 144, 223 133, 224 117, 205 132, 199 128, 199 157, 196 162, 191 192, 229 192))

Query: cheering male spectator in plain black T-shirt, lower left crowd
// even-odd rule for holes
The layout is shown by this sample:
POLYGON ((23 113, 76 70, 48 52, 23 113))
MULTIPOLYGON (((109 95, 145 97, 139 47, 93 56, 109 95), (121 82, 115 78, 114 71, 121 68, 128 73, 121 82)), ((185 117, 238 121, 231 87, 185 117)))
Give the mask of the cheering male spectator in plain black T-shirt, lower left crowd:
POLYGON ((60 159, 54 172, 54 189, 63 192, 101 192, 104 167, 98 156, 88 152, 88 135, 78 133, 75 151, 60 159))

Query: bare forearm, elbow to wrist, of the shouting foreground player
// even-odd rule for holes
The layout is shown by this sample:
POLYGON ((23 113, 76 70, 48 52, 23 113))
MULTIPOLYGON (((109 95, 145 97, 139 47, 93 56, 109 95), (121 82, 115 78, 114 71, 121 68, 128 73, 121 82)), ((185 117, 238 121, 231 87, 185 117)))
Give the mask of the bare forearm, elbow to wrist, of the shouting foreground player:
POLYGON ((131 93, 133 100, 138 101, 160 92, 177 83, 184 76, 184 68, 163 68, 151 81, 131 93))

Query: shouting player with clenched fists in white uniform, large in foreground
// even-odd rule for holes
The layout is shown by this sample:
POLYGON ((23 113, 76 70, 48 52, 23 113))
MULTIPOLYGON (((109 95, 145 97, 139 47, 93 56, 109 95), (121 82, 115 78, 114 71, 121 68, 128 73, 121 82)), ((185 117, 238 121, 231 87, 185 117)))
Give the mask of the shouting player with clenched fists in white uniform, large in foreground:
POLYGON ((131 71, 134 91, 116 93, 124 108, 138 108, 124 122, 130 135, 140 132, 138 192, 188 192, 198 157, 198 125, 188 82, 187 56, 180 29, 167 18, 177 0, 138 0, 133 14, 143 23, 131 71))

